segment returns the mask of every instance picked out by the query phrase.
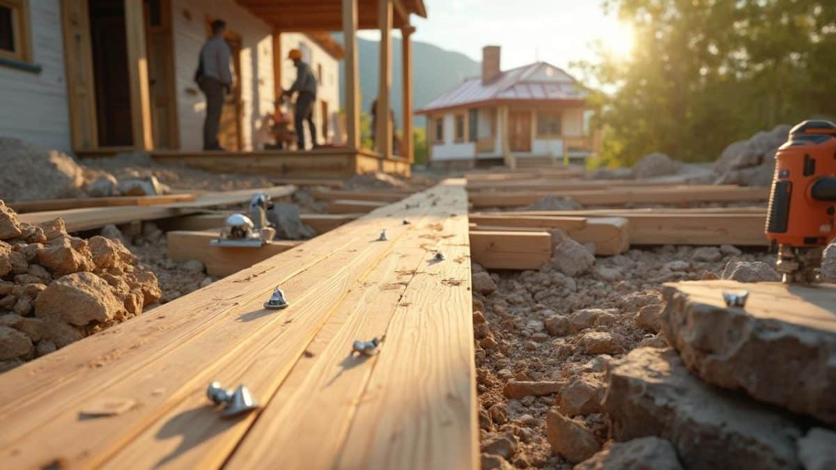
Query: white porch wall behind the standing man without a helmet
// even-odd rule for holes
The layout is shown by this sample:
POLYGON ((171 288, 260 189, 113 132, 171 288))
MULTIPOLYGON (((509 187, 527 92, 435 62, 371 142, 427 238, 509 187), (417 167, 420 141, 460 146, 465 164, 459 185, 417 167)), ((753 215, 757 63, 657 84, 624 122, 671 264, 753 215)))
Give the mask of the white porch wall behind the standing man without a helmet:
POLYGON ((261 116, 273 112, 272 28, 233 0, 171 2, 180 148, 199 151, 203 147, 206 100, 194 74, 198 54, 206 42, 207 15, 222 18, 227 28, 242 36, 241 76, 237 77, 242 89, 242 141, 244 150, 252 150, 252 137, 261 125, 261 116))

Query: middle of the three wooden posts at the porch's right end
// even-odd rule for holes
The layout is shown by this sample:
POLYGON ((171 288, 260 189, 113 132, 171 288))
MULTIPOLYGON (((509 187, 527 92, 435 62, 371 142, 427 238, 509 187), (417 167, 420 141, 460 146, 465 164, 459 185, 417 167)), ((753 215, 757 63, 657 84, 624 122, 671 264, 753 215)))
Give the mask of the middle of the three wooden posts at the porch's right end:
POLYGON ((377 91, 375 143, 380 156, 392 156, 392 123, 389 92, 392 89, 392 0, 378 0, 380 27, 380 69, 377 91))

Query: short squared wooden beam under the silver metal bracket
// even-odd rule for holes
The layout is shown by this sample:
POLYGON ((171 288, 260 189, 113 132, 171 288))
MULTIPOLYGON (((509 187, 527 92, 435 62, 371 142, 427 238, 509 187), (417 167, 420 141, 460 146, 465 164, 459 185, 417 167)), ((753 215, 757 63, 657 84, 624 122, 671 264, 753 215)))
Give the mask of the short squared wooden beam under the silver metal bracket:
POLYGON ((168 232, 166 233, 168 256, 175 261, 196 259, 206 266, 206 273, 212 276, 228 276, 303 243, 293 240, 276 240, 261 248, 213 247, 211 242, 217 237, 217 231, 168 232))

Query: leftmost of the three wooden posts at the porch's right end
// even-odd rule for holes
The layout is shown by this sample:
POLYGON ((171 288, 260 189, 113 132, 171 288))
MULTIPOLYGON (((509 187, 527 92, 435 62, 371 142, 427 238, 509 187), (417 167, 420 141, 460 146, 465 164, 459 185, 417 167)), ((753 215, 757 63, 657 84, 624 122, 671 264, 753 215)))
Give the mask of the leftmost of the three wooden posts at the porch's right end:
POLYGON ((359 76, 357 71, 357 0, 343 2, 343 42, 345 49, 345 145, 360 148, 359 76))

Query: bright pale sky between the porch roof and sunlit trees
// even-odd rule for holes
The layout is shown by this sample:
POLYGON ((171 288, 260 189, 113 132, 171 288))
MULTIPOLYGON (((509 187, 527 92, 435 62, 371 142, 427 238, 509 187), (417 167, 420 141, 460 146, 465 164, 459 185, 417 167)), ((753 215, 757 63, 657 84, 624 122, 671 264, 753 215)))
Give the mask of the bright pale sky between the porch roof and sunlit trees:
MULTIPOLYGON (((591 45, 626 54, 630 28, 605 14, 600 0, 424 0, 428 19, 412 16, 413 40, 482 61, 482 46, 502 46, 502 69, 542 60, 568 68, 594 59, 591 45)), ((375 31, 363 38, 379 39, 375 31)))

